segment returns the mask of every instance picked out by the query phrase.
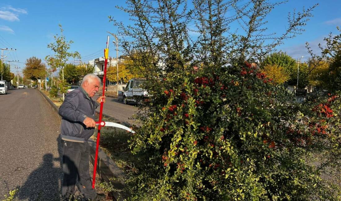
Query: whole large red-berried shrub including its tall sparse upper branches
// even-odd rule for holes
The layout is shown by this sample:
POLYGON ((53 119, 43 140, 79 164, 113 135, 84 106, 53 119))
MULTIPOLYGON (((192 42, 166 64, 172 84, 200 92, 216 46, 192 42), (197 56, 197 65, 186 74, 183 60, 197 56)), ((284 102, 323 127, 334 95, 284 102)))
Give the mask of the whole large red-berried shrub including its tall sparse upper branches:
POLYGON ((340 95, 299 104, 250 64, 301 33, 312 9, 275 35, 265 18, 280 3, 194 0, 193 10, 187 3, 131 0, 122 10, 133 25, 113 20, 130 37, 125 53, 148 53, 132 60, 147 69, 152 98, 130 140, 146 157, 125 181, 130 199, 336 200, 339 187, 320 178, 324 167, 311 156, 338 158, 340 95))

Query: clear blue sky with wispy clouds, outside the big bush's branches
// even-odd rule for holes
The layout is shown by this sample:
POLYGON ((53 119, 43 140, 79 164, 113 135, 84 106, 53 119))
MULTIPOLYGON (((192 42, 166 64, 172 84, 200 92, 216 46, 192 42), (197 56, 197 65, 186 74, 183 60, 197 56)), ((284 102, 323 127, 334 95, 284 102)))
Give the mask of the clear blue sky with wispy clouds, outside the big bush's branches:
MULTIPOLYGON (((269 15, 267 25, 269 31, 282 33, 287 24, 288 12, 295 8, 301 11, 303 6, 307 8, 315 3, 319 5, 313 11, 314 17, 305 27, 306 32, 294 39, 286 40, 278 49, 286 51, 294 58, 301 55, 308 58, 306 41, 316 49, 317 44, 322 43, 329 32, 338 34, 336 26, 341 26, 340 0, 289 0, 269 15)), ((4 55, 7 55, 6 60, 25 62, 31 56, 44 60, 46 55, 53 54, 47 48, 47 44, 54 42, 53 36, 59 33, 60 23, 66 38, 74 41, 71 50, 78 51, 83 56, 83 61, 102 56, 102 51, 99 50, 105 47, 106 31, 112 33, 117 31, 109 22, 108 15, 125 24, 130 23, 127 14, 116 9, 115 5, 124 6, 124 1, 2 0, 0 2, 0 48, 17 49, 16 52, 7 54, 4 51, 4 55)), ((110 38, 110 41, 112 40, 113 38, 110 38)), ((113 48, 110 56, 116 56, 113 48)), ((17 64, 21 69, 25 66, 25 64, 17 64)))

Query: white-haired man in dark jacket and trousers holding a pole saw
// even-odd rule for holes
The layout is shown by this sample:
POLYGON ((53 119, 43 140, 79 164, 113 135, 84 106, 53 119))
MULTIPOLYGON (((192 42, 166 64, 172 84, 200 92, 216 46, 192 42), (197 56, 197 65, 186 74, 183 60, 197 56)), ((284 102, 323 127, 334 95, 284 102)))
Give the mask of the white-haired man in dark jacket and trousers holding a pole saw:
POLYGON ((100 102, 105 102, 105 96, 97 101, 91 98, 99 90, 101 80, 95 74, 87 74, 82 84, 71 91, 59 107, 61 122, 61 139, 63 144, 63 183, 62 198, 72 199, 78 176, 79 190, 93 201, 104 200, 105 195, 97 194, 92 188, 89 174, 89 144, 88 139, 94 133, 95 110, 100 102))

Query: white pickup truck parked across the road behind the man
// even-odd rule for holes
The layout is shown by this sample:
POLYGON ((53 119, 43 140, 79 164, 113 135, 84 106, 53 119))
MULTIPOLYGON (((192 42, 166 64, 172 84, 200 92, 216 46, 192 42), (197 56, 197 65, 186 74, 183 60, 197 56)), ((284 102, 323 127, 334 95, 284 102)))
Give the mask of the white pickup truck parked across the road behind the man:
POLYGON ((141 87, 145 81, 142 78, 135 78, 128 81, 127 85, 123 87, 123 91, 119 91, 118 99, 123 101, 123 104, 129 102, 140 103, 143 99, 148 97, 148 92, 141 87))

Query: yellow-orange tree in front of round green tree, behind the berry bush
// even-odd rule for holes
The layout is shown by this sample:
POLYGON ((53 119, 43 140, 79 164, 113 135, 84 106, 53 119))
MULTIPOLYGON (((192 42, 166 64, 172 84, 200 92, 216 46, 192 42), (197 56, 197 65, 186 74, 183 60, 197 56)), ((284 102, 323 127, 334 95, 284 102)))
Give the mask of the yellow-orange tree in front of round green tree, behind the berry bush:
POLYGON ((261 70, 276 84, 284 84, 289 79, 289 75, 285 73, 282 66, 277 65, 265 65, 261 70))

